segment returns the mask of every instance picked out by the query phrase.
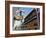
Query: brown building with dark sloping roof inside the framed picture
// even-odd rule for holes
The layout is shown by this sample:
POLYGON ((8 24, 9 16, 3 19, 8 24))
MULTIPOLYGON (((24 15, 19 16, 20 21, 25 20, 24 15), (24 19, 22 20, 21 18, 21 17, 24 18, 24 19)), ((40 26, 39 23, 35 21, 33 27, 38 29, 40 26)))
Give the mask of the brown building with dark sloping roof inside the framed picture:
POLYGON ((36 30, 40 27, 40 12, 36 9, 33 9, 31 13, 29 13, 21 26, 22 30, 36 30))

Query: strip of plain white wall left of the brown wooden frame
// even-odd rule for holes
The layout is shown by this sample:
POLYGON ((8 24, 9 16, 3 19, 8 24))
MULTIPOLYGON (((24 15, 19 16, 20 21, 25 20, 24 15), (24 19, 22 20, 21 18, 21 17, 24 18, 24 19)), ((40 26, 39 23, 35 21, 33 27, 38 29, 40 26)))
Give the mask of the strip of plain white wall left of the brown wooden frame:
POLYGON ((5 0, 0 0, 0 37, 5 35, 5 0))

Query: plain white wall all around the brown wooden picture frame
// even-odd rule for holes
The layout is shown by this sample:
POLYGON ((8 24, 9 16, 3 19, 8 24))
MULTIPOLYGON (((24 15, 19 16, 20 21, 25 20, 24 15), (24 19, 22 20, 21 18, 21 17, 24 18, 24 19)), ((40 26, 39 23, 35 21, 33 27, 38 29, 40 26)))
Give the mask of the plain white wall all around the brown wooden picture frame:
MULTIPOLYGON (((44 2, 45 3, 45 0, 20 0, 20 1, 44 2)), ((4 0, 0 0, 0 38, 4 38, 4 36, 5 36, 5 3, 4 2, 5 2, 4 0)), ((45 13, 45 16, 46 16, 46 13, 45 13)), ((46 20, 45 20, 45 22, 46 22, 46 20)), ((24 36, 24 37, 16 37, 16 38, 46 38, 46 35, 26 36, 26 37, 24 36)))

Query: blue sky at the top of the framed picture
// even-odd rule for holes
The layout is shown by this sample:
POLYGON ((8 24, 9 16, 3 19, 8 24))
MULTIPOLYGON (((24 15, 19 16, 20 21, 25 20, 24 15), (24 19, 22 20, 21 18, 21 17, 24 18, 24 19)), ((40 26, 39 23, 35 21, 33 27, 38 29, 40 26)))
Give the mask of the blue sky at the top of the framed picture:
POLYGON ((19 8, 19 10, 23 10, 22 15, 26 17, 33 8, 27 8, 27 7, 13 7, 13 15, 16 15, 16 10, 19 8))

